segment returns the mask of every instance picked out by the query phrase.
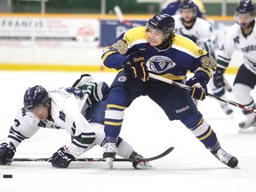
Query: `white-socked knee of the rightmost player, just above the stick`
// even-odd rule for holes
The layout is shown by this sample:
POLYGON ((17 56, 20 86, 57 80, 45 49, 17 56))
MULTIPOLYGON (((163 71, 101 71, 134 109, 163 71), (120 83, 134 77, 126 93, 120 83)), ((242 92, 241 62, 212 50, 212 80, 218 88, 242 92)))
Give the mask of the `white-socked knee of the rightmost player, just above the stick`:
POLYGON ((245 84, 234 84, 233 96, 238 102, 247 105, 252 102, 252 96, 250 92, 252 88, 245 84))

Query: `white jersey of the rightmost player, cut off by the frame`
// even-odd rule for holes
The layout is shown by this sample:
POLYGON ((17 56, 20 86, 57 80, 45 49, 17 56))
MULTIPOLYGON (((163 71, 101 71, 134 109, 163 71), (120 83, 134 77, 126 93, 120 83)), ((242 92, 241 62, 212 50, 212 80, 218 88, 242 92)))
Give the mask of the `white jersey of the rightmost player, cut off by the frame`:
POLYGON ((228 68, 232 54, 235 50, 243 52, 244 66, 256 75, 256 28, 255 25, 252 33, 244 37, 241 27, 236 23, 228 28, 221 45, 220 52, 217 56, 219 68, 228 68))

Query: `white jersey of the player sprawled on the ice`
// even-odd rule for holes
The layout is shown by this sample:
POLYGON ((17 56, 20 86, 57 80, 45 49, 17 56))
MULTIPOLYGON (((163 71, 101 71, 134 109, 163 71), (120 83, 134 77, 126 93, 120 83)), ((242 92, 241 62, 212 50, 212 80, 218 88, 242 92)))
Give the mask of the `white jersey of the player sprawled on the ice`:
MULTIPOLYGON (((20 108, 6 142, 12 142, 17 148, 22 140, 30 138, 42 127, 62 128, 73 136, 69 145, 72 155, 81 155, 93 147, 97 134, 95 130, 99 129, 99 125, 95 128, 94 125, 89 124, 84 115, 93 102, 103 98, 102 84, 102 82, 96 82, 92 76, 85 76, 83 83, 77 84, 77 87, 81 89, 68 87, 48 91, 51 98, 51 116, 48 120, 42 122, 25 108, 20 108)), ((102 125, 101 130, 103 130, 102 125)), ((101 139, 103 140, 104 132, 100 132, 102 132, 103 138, 101 139)))

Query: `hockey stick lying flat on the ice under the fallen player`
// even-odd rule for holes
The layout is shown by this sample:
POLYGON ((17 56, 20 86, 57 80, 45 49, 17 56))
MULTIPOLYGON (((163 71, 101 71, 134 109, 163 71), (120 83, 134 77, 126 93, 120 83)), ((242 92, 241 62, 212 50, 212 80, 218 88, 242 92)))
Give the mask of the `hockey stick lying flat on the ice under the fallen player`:
MULTIPOLYGON (((140 162, 154 161, 156 159, 162 158, 163 156, 167 156, 169 153, 171 153, 173 149, 174 148, 171 147, 157 156, 140 159, 140 162)), ((14 158, 12 161, 13 162, 31 162, 31 161, 33 161, 33 162, 51 162, 51 160, 52 160, 52 158, 14 158)), ((105 162, 106 160, 104 158, 76 158, 75 161, 78 161, 78 162, 105 162)), ((123 158, 116 158, 114 161, 115 162, 131 162, 130 159, 123 159, 123 158)))

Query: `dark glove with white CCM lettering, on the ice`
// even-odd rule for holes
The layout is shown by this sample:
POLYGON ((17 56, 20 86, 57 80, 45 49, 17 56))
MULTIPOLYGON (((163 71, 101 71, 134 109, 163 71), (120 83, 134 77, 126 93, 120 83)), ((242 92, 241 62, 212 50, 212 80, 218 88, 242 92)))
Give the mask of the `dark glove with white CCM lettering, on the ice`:
POLYGON ((52 163, 53 167, 67 168, 70 162, 75 159, 76 158, 68 152, 66 147, 62 147, 52 155, 49 161, 52 163))

